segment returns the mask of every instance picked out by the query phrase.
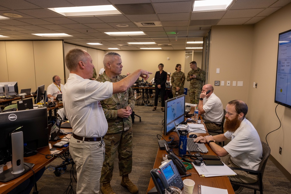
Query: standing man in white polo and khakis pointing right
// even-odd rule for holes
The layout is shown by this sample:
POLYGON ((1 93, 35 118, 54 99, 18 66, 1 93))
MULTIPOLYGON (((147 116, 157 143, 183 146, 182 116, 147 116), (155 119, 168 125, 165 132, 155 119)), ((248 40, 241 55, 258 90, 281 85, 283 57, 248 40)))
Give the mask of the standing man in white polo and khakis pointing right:
POLYGON ((69 149, 77 166, 77 193, 99 193, 105 152, 102 137, 108 129, 100 101, 125 92, 139 76, 148 79, 149 72, 140 69, 116 83, 101 83, 90 80, 94 65, 86 51, 70 50, 65 62, 70 76, 64 86, 63 103, 73 129, 69 149))

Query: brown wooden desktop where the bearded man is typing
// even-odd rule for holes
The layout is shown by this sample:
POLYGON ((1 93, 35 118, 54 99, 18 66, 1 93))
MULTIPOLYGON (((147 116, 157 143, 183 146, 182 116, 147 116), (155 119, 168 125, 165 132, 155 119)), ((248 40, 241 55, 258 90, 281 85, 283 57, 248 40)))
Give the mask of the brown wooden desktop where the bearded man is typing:
MULTIPOLYGON (((205 136, 206 134, 200 134, 200 133, 195 133, 197 136, 205 136)), ((178 139, 178 135, 176 132, 171 132, 170 135, 175 136, 175 140, 178 139)), ((163 137, 167 140, 168 136, 163 135, 163 137)), ((215 154, 215 152, 212 151, 212 149, 210 148, 209 145, 205 144, 207 149, 208 149, 208 153, 207 155, 217 155, 215 154)), ((173 149, 173 152, 175 152, 175 154, 178 155, 178 149, 175 148, 173 149)), ((160 150, 158 148, 158 152, 157 152, 157 156, 156 156, 156 160, 155 160, 155 164, 153 168, 159 168, 159 166, 161 165, 162 162, 162 156, 163 154, 166 154, 165 150, 160 150)), ((193 152, 192 152, 193 154, 193 152)), ((230 181, 228 179, 227 176, 223 176, 223 177, 199 177, 198 173, 196 172, 196 170, 194 168, 187 170, 187 172, 191 172, 192 175, 188 176, 188 177, 184 177, 182 178, 184 179, 192 179, 195 181, 195 186, 194 186, 194 191, 193 193, 198 193, 198 185, 204 185, 204 186, 210 186, 210 187, 216 187, 216 188, 222 188, 222 189, 227 189, 228 194, 234 194, 233 188, 230 184, 230 181)), ((149 172, 150 173, 150 172, 149 172)), ((152 178, 150 179, 150 183, 148 185, 148 191, 150 191, 153 187, 155 186, 154 182, 152 181, 152 178)), ((183 193, 183 191, 182 191, 183 193)))

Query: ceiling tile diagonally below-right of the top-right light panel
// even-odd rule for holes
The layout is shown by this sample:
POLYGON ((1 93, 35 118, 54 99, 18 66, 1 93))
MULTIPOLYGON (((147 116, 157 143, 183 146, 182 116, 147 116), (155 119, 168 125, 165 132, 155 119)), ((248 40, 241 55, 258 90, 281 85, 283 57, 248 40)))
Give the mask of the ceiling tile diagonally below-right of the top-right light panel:
POLYGON ((228 18, 242 18, 242 17, 254 17, 262 12, 264 9, 241 9, 241 10, 228 10, 222 19, 228 18))

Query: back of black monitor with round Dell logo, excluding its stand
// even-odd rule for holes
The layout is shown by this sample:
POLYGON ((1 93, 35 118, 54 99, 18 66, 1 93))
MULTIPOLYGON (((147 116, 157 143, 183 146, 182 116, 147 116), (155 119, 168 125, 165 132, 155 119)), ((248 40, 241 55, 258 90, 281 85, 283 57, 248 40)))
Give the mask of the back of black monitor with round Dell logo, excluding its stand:
POLYGON ((17 131, 23 132, 24 157, 36 154, 36 149, 40 147, 48 146, 47 108, 0 113, 0 160, 11 161, 11 134, 17 131))

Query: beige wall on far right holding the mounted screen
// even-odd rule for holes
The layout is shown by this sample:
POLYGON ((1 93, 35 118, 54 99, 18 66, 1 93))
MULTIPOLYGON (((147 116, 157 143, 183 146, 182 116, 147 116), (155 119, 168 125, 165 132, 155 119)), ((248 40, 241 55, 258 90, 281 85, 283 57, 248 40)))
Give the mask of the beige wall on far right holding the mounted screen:
MULTIPOLYGON (((254 42, 249 83, 249 119, 259 132, 260 138, 280 126, 274 103, 278 34, 291 29, 291 3, 276 11, 254 26, 254 42), (253 82, 258 83, 253 88, 253 82)), ((291 173, 291 109, 278 105, 277 114, 282 126, 268 135, 271 155, 291 173), (286 141, 285 141, 286 140, 286 141), (282 155, 279 154, 282 147, 282 155)))

